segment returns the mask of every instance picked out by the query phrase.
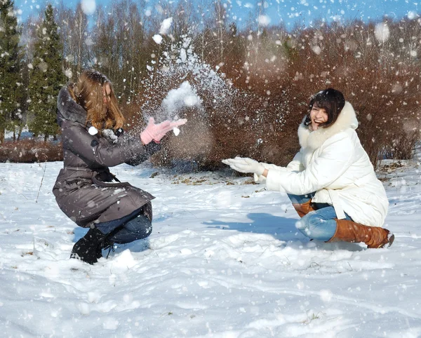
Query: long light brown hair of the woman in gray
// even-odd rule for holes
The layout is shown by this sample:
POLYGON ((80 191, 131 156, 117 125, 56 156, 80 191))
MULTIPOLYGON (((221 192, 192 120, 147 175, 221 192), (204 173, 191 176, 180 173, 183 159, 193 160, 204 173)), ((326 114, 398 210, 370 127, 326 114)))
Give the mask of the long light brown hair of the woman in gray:
POLYGON ((91 123, 98 130, 109 128, 116 130, 123 126, 124 117, 114 95, 112 83, 104 74, 95 70, 83 71, 77 83, 69 86, 69 92, 73 99, 86 110, 86 123, 91 123), (107 83, 111 93, 109 102, 106 104, 103 100, 107 83))

